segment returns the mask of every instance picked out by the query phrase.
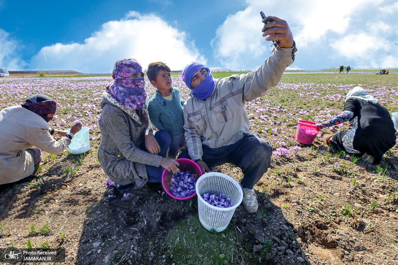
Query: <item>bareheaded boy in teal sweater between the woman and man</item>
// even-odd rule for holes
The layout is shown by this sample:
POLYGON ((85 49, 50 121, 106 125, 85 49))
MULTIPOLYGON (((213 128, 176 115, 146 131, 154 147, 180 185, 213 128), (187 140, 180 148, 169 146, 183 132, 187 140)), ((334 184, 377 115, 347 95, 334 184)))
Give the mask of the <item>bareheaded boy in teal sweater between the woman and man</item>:
POLYGON ((176 158, 178 151, 187 148, 184 136, 183 106, 180 90, 171 86, 170 67, 163 62, 151 63, 147 75, 157 91, 148 102, 148 115, 158 130, 166 130, 171 136, 169 157, 176 158))

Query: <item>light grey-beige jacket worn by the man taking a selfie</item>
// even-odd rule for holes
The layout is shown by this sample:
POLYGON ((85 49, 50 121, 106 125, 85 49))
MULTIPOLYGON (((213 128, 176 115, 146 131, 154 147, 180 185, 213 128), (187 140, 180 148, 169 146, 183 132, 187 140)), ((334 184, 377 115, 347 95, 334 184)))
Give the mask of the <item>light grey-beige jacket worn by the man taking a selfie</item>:
POLYGON ((202 157, 202 144, 218 148, 233 144, 250 134, 246 101, 262 97, 282 78, 295 58, 296 46, 274 49, 257 70, 234 74, 215 81, 215 89, 206 100, 189 97, 184 105, 184 130, 192 160, 202 157))

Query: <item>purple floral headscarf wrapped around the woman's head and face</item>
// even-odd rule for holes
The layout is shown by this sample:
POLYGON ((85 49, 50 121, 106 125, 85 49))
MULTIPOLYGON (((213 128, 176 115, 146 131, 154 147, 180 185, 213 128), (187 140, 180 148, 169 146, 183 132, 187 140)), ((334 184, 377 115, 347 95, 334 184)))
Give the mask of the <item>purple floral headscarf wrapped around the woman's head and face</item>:
POLYGON ((113 67, 115 80, 109 87, 109 95, 129 110, 142 109, 145 105, 144 78, 129 78, 139 72, 142 72, 142 67, 135 59, 118 60, 113 67))

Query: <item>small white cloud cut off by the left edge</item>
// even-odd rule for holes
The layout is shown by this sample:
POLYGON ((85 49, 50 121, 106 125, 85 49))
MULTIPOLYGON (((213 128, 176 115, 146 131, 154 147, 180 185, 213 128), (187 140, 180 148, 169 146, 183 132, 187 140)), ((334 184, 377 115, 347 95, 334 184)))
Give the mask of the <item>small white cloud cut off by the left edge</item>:
POLYGON ((19 70, 26 65, 17 56, 18 41, 10 38, 9 33, 0 28, 0 67, 19 70))

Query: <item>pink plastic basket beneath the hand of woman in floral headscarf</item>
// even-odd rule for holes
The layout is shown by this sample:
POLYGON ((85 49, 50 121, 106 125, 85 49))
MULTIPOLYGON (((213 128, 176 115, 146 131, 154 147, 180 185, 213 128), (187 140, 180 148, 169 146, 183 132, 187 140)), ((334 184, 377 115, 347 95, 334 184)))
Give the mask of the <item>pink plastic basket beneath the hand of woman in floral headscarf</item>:
POLYGON ((174 199, 181 199, 181 200, 183 200, 183 199, 191 199, 191 198, 193 198, 196 195, 196 193, 194 193, 193 195, 191 195, 189 197, 178 198, 178 197, 175 197, 170 192, 171 177, 173 176, 174 173, 178 173, 178 172, 181 172, 181 171, 189 171, 198 180, 199 177, 202 175, 202 170, 200 169, 199 165, 197 163, 195 163, 195 161, 193 161, 191 159, 179 158, 179 159, 177 159, 177 161, 180 163, 180 165, 178 166, 177 170, 175 170, 173 172, 170 172, 167 169, 165 169, 163 171, 163 174, 162 174, 163 189, 165 189, 166 193, 168 195, 170 195, 174 199))

